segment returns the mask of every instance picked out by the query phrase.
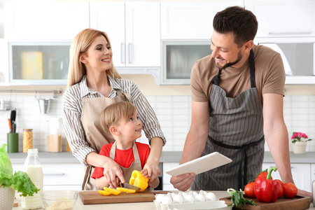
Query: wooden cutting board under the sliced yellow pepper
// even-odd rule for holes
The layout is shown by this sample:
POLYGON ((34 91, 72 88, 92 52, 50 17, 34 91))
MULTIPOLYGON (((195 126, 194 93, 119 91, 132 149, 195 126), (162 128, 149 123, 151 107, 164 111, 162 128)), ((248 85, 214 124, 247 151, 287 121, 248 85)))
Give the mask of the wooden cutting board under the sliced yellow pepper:
POLYGON ((167 194, 169 191, 149 191, 141 193, 120 193, 119 195, 101 195, 98 191, 81 191, 79 196, 84 205, 115 204, 133 202, 153 202, 155 194, 167 194))

